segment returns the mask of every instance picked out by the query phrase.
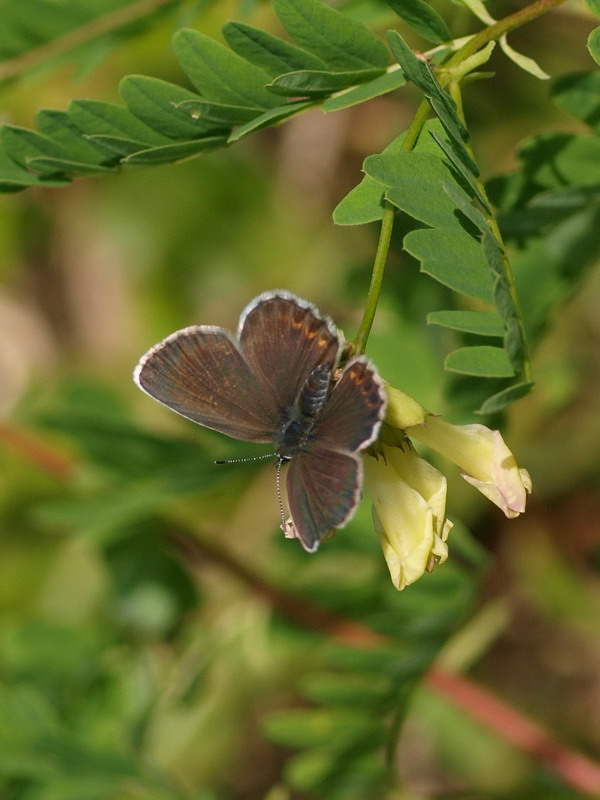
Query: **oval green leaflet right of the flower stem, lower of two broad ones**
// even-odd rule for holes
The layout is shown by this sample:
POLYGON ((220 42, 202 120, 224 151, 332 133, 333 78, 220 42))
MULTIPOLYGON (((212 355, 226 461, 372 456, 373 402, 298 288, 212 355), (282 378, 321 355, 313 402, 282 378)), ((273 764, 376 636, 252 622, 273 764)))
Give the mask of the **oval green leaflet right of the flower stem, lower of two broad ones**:
POLYGON ((404 249, 421 261, 421 271, 455 292, 491 303, 494 283, 481 244, 456 228, 411 231, 404 249))

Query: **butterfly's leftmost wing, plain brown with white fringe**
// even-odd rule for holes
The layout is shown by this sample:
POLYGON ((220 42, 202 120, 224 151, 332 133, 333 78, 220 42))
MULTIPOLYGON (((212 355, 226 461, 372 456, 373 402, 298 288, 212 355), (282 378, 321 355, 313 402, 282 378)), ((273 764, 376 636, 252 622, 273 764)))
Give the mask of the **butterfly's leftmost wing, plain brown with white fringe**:
POLYGON ((264 396, 223 328, 192 326, 171 334, 142 357, 134 380, 178 414, 235 439, 271 442, 280 424, 281 409, 264 396))

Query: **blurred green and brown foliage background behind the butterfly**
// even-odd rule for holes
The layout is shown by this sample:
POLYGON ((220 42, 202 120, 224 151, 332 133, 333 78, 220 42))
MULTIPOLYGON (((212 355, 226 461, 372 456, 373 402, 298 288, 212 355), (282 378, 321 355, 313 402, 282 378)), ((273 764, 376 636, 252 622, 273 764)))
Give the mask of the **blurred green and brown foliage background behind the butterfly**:
MULTIPOLYGON (((351 10, 381 30, 393 24, 380 7, 351 10)), ((451 13, 469 30, 466 11, 451 13)), ((185 85, 172 34, 185 24, 219 37, 229 17, 275 29, 265 5, 184 3, 110 49, 4 85, 2 118, 31 126, 38 108, 74 97, 118 102, 130 73, 185 85)), ((560 75, 592 67, 591 27, 569 7, 511 43, 560 75)), ((486 178, 514 168, 523 138, 584 129, 546 84, 499 54, 493 69, 465 97, 486 178)), ((150 345, 190 324, 235 328, 267 289, 309 298, 352 336, 378 231, 335 228, 331 212, 417 102, 404 92, 316 110, 175 166, 0 196, 3 800, 303 797, 301 766, 298 793, 284 787, 286 735, 265 731, 265 719, 318 699, 310 675, 330 668, 331 652, 243 568, 258 588, 393 632, 407 653, 418 642, 443 648, 442 664, 600 760, 598 263, 549 320, 536 390, 508 415, 505 436, 533 478, 527 514, 504 520, 444 465, 457 522, 450 560, 401 594, 367 501, 306 555, 278 531, 270 466, 213 465, 255 448, 177 418, 131 381, 150 345)), ((445 290, 400 242, 369 355, 430 410, 477 421, 442 371, 447 334, 424 323, 446 307, 445 290)), ((396 759, 397 797, 577 796, 426 687, 396 759)), ((370 791, 319 796, 379 796, 370 791)))

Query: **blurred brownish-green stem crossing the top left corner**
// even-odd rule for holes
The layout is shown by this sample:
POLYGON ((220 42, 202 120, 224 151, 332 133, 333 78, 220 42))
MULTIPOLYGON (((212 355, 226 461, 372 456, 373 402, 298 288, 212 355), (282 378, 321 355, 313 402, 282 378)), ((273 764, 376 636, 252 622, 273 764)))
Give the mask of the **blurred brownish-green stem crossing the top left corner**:
POLYGON ((57 58, 76 47, 81 47, 92 39, 105 36, 124 25, 147 17, 163 6, 174 5, 178 2, 180 0, 137 0, 135 3, 129 3, 108 14, 96 17, 56 39, 44 42, 39 47, 27 50, 27 52, 5 61, 0 65, 0 83, 16 78, 22 72, 33 69, 44 61, 57 58))

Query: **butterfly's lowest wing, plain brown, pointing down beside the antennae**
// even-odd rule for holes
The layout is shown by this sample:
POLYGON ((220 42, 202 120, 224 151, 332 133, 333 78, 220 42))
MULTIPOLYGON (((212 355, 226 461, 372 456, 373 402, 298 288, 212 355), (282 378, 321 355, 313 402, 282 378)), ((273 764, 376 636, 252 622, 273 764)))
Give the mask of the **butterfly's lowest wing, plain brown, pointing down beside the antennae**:
POLYGON ((332 528, 350 519, 361 485, 362 464, 351 453, 315 446, 291 461, 286 480, 291 531, 305 550, 314 553, 332 528))

